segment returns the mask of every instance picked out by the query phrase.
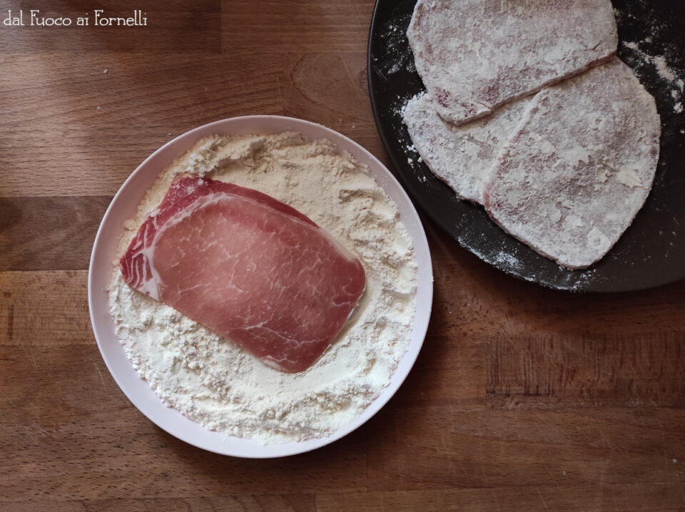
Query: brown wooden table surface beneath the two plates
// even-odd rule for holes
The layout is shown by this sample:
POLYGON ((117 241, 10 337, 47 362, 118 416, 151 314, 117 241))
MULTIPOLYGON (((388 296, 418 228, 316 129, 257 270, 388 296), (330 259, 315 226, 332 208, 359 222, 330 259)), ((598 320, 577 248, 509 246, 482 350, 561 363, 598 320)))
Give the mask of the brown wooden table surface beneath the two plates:
MULTIPOLYGON (((98 2, 0 1, 51 16, 98 2)), ((388 164, 367 95, 372 0, 112 1, 146 27, 0 25, 1 511, 684 511, 685 281, 569 295, 430 221, 420 357, 360 429, 244 460, 178 441, 118 389, 88 257, 123 180, 210 121, 322 123, 388 164), (143 6, 143 4, 148 4, 143 6)))

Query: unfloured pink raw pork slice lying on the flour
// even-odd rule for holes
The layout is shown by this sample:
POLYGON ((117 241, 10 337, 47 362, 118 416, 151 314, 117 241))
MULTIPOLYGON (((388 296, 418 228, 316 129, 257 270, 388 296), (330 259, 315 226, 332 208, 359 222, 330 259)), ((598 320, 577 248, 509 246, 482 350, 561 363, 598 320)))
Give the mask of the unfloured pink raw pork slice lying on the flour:
POLYGON ((134 289, 288 373, 323 354, 365 287, 359 260, 308 217, 206 178, 171 186, 120 267, 134 289))

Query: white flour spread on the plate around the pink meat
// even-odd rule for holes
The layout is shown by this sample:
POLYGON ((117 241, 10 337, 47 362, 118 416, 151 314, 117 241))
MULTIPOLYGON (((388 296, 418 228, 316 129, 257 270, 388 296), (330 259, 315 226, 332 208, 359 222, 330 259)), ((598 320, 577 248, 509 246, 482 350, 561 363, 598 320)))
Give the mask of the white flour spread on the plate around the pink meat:
POLYGON ((126 222, 120 254, 173 180, 188 173, 260 190, 308 215, 359 257, 366 290, 323 357, 285 374, 132 290, 117 270, 109 300, 129 359, 166 404, 209 429, 263 444, 332 434, 389 384, 410 341, 417 267, 395 204, 328 140, 210 137, 161 173, 126 222))

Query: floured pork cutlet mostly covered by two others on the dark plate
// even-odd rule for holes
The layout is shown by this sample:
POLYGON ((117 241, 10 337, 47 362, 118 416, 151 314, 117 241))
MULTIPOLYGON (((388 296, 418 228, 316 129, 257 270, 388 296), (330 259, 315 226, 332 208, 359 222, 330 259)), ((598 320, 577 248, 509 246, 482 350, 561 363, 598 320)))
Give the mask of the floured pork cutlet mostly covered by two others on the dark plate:
POLYGON ((483 184, 529 101, 513 101, 492 116, 454 126, 437 115, 434 102, 423 93, 407 103, 404 121, 432 173, 450 185, 457 197, 482 204, 483 184))

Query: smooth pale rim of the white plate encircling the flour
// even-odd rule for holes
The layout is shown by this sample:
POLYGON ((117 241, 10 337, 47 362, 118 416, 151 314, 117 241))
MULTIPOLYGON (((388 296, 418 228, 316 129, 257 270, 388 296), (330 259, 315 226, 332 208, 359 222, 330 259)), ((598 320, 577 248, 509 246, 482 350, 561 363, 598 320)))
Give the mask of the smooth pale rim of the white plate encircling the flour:
MULTIPOLYGON (((167 165, 168 163, 166 165, 162 165, 156 173, 153 173, 153 180, 156 179, 158 174, 161 173, 167 165)), ((147 173, 151 173, 151 171, 148 170, 147 173)), ((148 188, 142 190, 140 199, 142 199, 143 195, 146 193, 146 190, 148 190, 148 188)), ((138 204, 140 204, 140 200, 136 202, 136 208, 138 208, 138 204)), ((121 234, 121 226, 118 227, 118 232, 121 234)), ((118 245, 118 242, 116 245, 118 245)), ((111 261, 112 260, 110 259, 110 262, 111 261)), ((104 282, 108 282, 108 279, 104 280, 104 282)), ((160 148, 151 153, 151 155, 148 155, 148 157, 145 158, 130 175, 128 175, 128 178, 126 178, 126 180, 117 190, 116 194, 111 200, 110 205, 108 205, 108 208, 98 227, 98 232, 93 242, 91 258, 88 265, 88 312, 91 318, 93 334, 96 337, 98 349, 100 350, 101 357, 103 357, 108 371, 112 375, 116 384, 119 386, 119 389, 121 389, 123 394, 125 394, 128 400, 131 401, 131 404, 136 406, 136 409, 141 411, 141 413, 150 421, 152 421, 153 424, 156 424, 156 426, 163 429, 168 434, 181 439, 181 441, 216 454, 236 456, 246 459, 269 459, 274 457, 302 454, 333 443, 347 434, 350 434, 352 431, 355 431, 362 424, 365 424, 366 421, 374 416, 377 411, 380 411, 380 409, 387 404, 387 401, 389 401, 392 396, 395 395, 397 389, 400 388, 402 382, 405 381, 407 375, 410 373, 410 370, 415 364, 427 333, 432 309, 432 298, 432 260, 425 230, 423 229, 420 217, 418 216, 412 201, 410 200, 404 188, 402 188, 402 185, 400 185, 397 178, 395 178, 390 170, 388 170, 385 165, 380 162, 380 160, 372 155, 372 153, 351 138, 348 138, 346 135, 342 135, 342 133, 320 125, 319 123, 313 123, 312 121, 305 121, 303 119, 292 118, 288 116, 256 115, 220 119, 218 121, 206 123, 202 126, 188 130, 185 133, 178 135, 176 138, 169 140, 160 148), (118 339, 118 337, 116 337, 116 332, 111 331, 113 322, 111 319, 111 314, 109 313, 107 299, 105 299, 104 303, 106 314, 103 314, 103 295, 104 297, 108 297, 108 292, 103 288, 102 276, 98 274, 98 271, 100 274, 101 272, 106 272, 111 277, 112 267, 108 267, 108 270, 103 270, 97 265, 103 265, 99 262, 99 260, 101 260, 103 257, 106 257, 106 254, 102 254, 102 252, 106 250, 106 242, 103 240, 103 237, 106 236, 106 230, 110 229, 110 223, 113 222, 113 220, 111 220, 113 217, 112 212, 116 211, 119 203, 123 201, 123 198, 127 195, 126 193, 128 192, 128 189, 131 188, 132 184, 136 181, 136 178, 139 178, 141 175, 145 174, 148 166, 152 165, 151 162, 154 163, 156 159, 161 158, 161 156, 166 155, 166 153, 172 154, 171 160, 183 155, 186 150, 179 151, 176 148, 176 145, 182 145, 181 143, 186 143, 188 140, 191 140, 191 145, 193 145, 201 138, 210 135, 210 133, 207 132, 211 131, 220 132, 221 135, 228 135, 228 132, 221 131, 220 128, 229 130, 231 126, 243 126, 241 123, 245 123, 248 126, 265 124, 271 125, 272 128, 278 126, 278 128, 263 128, 260 130, 260 132, 255 132, 249 128, 242 130, 233 128, 233 135, 248 133, 282 133, 289 130, 300 133, 297 128, 297 126, 300 126, 301 128, 307 128, 308 130, 318 132, 318 135, 303 134, 305 137, 326 138, 334 143, 338 150, 350 152, 355 160, 359 161, 360 164, 367 165, 370 174, 376 180, 378 185, 385 190, 385 193, 390 197, 393 203, 397 205, 397 208, 400 209, 402 215, 400 222, 405 225, 405 229, 407 229, 407 232, 409 233, 415 247, 415 260, 417 261, 418 266, 416 290, 417 310, 415 312, 414 323, 412 324, 412 332, 410 334, 410 342, 407 346, 407 352, 405 352, 400 359, 400 362, 398 362, 397 368, 395 369, 395 373, 392 375, 390 383, 380 392, 379 396, 377 396, 376 399, 374 399, 367 406, 365 411, 356 416, 352 421, 340 426, 338 430, 327 437, 308 439, 306 441, 288 441, 283 444, 263 445, 257 441, 254 441, 253 439, 238 438, 206 429, 204 426, 201 426, 195 421, 183 416, 180 411, 163 404, 155 391, 152 390, 148 382, 142 379, 137 374, 136 370, 133 369, 133 364, 126 356, 121 341, 118 339), (342 143, 343 147, 340 147, 340 143, 342 143), (363 157, 361 158, 361 161, 360 156, 363 157), (374 170, 372 170, 372 168, 374 170), (382 181, 385 183, 380 183, 380 176, 382 176, 382 181), (387 190, 388 187, 390 187, 392 190, 387 190), (398 204, 398 199, 400 202, 404 202, 405 204, 398 204), (419 295, 422 295, 421 301, 418 300, 419 295), (106 326, 103 325, 103 322, 106 323, 106 319, 104 317, 108 317, 109 319, 109 324, 106 326), (106 332, 106 329, 110 329, 110 331, 106 332), (114 339, 116 339, 115 347, 111 347, 112 335, 114 339), (106 339, 106 336, 109 336, 110 338, 106 339), (126 359, 126 362, 128 362, 128 369, 123 368, 120 370, 118 367, 118 365, 121 364, 122 354, 126 359), (133 385, 130 382, 131 372, 136 374, 138 380, 136 385, 133 385), (143 384, 143 386, 147 389, 147 392, 145 389, 141 391, 141 384, 143 384), (139 395, 141 392, 143 392, 144 396, 139 395), (153 398, 150 395, 152 395, 153 398), (160 410, 160 408, 163 410, 160 410), (167 414, 163 414, 165 412, 167 414), (178 416, 180 416, 180 418, 178 416), (173 420, 179 421, 181 426, 174 423, 173 420), (189 426, 188 423, 191 425, 189 426), (196 431, 200 429, 200 431, 202 431, 204 434, 203 438, 198 440, 196 437, 189 435, 186 431, 188 428, 196 431), (211 442, 207 441, 207 439, 210 439, 211 442)))

